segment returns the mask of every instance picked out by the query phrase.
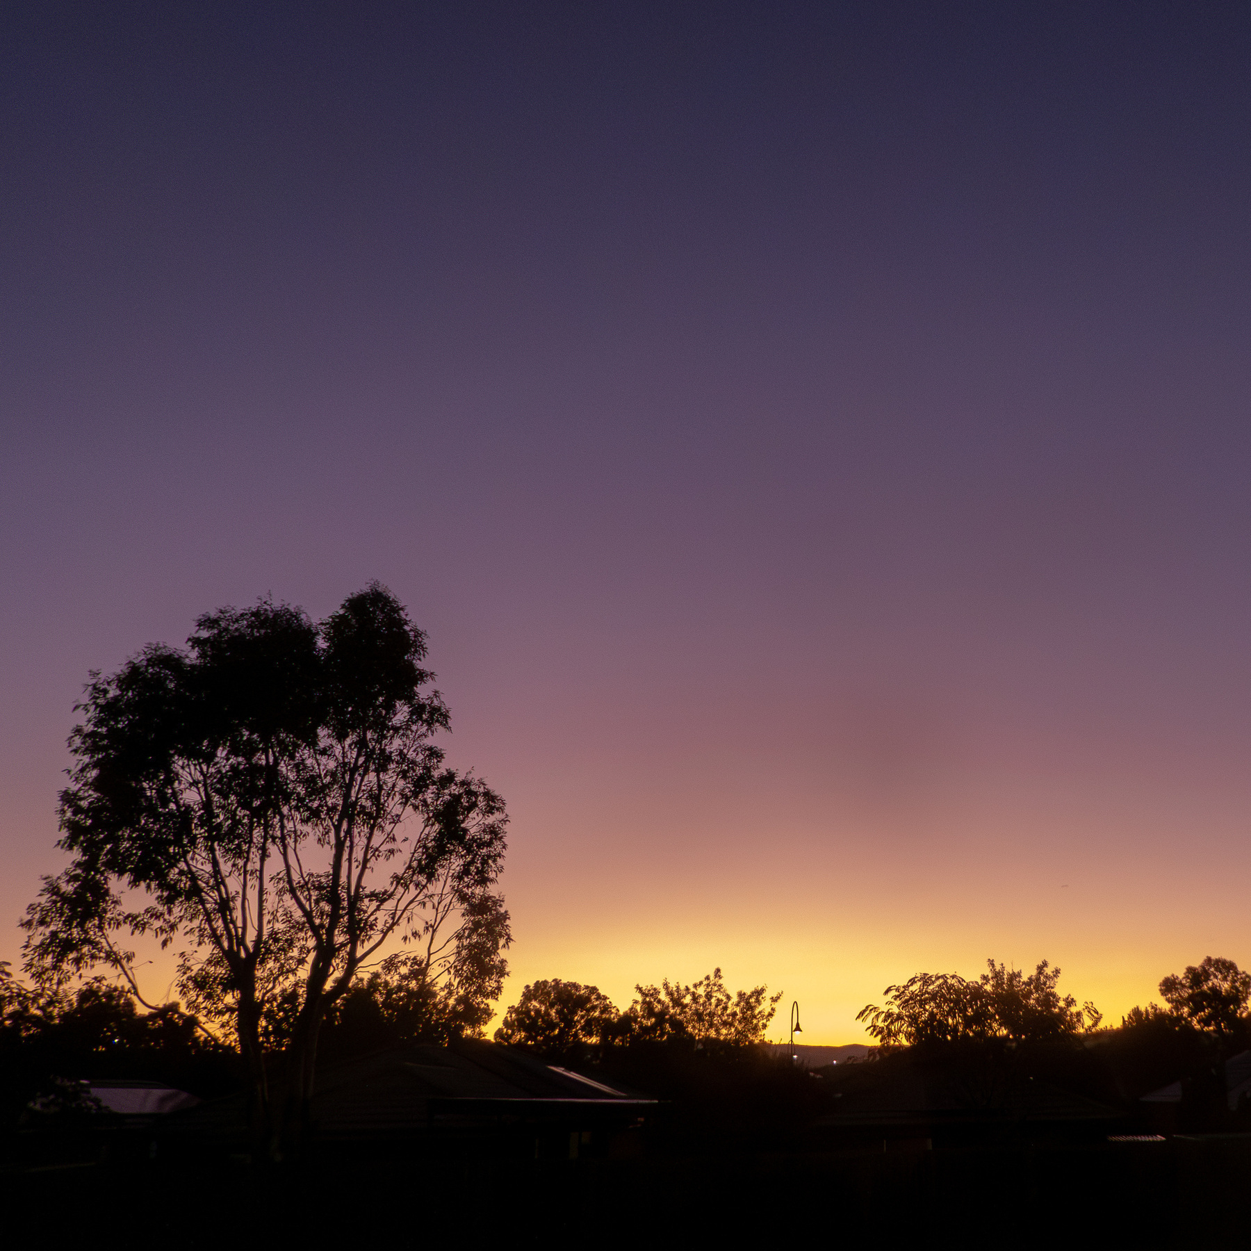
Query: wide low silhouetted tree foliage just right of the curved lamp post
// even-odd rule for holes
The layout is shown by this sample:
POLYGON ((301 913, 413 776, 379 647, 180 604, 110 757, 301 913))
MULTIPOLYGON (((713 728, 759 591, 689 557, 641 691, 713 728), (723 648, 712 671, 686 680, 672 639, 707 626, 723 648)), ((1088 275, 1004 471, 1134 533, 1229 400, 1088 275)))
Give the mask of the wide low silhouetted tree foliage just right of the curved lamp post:
POLYGON ((1060 970, 1041 961, 1028 976, 987 961, 976 982, 958 973, 917 973, 886 988, 884 1006, 867 1005, 857 1021, 891 1050, 963 1040, 1043 1042, 1098 1028, 1102 1016, 1061 996, 1060 970))

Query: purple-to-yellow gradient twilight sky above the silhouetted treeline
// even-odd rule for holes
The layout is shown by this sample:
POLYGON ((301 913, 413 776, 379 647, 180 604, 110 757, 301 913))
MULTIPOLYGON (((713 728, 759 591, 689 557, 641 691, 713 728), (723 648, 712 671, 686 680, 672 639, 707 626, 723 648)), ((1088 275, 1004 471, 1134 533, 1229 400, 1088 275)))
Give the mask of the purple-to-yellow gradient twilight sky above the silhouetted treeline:
POLYGON ((0 958, 89 671, 380 579, 509 806, 502 1006, 719 966, 844 1043, 922 970, 1116 1022, 1251 966, 1248 55, 1221 3, 6 8, 0 958))

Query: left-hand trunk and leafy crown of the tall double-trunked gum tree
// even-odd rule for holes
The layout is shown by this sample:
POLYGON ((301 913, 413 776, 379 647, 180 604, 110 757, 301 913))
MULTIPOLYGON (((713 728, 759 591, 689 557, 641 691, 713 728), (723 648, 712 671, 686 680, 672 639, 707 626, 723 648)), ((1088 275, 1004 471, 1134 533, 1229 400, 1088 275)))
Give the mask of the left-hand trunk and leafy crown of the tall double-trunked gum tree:
POLYGON ((185 652, 153 646, 93 673, 60 803, 74 859, 25 919, 36 980, 106 966, 140 1000, 128 938, 188 940, 186 990, 219 1023, 229 1010, 261 1105, 261 1016, 290 962, 273 926, 274 839, 291 764, 317 743, 318 667, 311 622, 261 603, 201 617, 185 652), (190 977, 205 961, 211 991, 190 977))

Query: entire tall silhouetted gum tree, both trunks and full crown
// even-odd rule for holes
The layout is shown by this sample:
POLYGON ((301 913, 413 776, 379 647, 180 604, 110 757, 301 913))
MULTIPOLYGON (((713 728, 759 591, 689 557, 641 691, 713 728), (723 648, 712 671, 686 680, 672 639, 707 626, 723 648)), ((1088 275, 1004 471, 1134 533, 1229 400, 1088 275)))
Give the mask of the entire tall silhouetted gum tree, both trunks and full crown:
POLYGON ((320 624, 270 602, 201 617, 185 651, 93 674, 79 706, 59 843, 74 859, 28 911, 28 970, 58 983, 108 966, 138 995, 128 942, 178 945, 188 1006, 238 1038, 275 1143, 298 1132, 322 1023, 365 966, 469 1030, 499 995, 507 817, 433 742, 448 711, 425 654, 374 584, 320 624))

